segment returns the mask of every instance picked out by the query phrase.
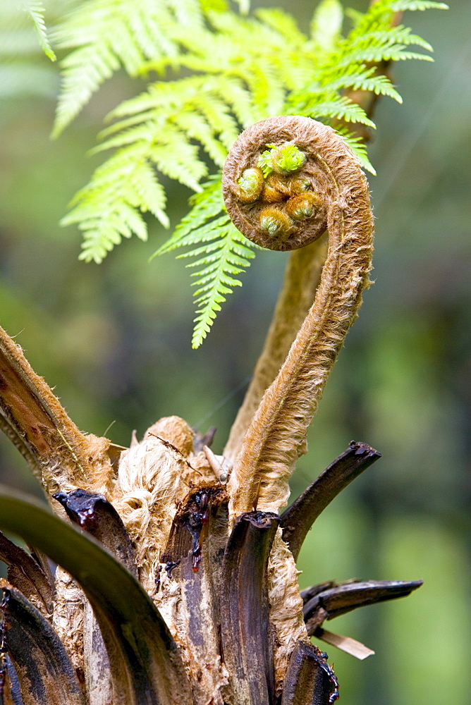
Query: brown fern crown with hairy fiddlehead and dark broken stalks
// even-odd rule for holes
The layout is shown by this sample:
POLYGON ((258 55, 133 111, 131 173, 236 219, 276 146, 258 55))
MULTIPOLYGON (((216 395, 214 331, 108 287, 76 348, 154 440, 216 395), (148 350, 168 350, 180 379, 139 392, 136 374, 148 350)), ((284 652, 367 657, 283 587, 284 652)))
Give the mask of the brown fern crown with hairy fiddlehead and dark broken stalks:
MULTIPOLYGON (((315 243, 329 232, 314 303, 286 360, 262 358, 256 393, 224 456, 178 417, 160 419, 121 453, 82 434, 0 330, 0 424, 61 517, 0 494, 0 527, 32 547, 27 553, 0 536, 8 564, 0 625, 7 703, 327 705, 338 682, 310 636, 364 656, 357 642, 324 630, 324 620, 420 585, 326 582, 300 593, 302 541, 338 492, 379 458, 366 443, 350 443, 279 514, 368 286, 373 223, 357 159, 334 130, 310 118, 269 118, 240 136, 223 183, 228 211, 247 237, 298 248, 303 274, 294 295, 290 286, 283 291, 283 317, 290 296, 312 296, 322 266, 315 243), (269 154, 262 173, 267 145, 282 157, 288 147, 298 163, 281 168, 269 154), (247 170, 259 182, 241 198, 247 170), (45 556, 60 566, 54 577, 45 556)), ((279 340, 283 350, 290 336, 276 324, 271 345, 279 340)))

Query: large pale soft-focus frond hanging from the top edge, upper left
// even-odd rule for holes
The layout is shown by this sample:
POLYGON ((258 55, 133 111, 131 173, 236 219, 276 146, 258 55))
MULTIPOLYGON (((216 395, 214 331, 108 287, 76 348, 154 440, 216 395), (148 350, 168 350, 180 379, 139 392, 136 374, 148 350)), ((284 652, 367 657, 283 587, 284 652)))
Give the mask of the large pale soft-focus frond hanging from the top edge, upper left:
POLYGON ((198 31, 198 0, 91 0, 80 4, 56 27, 60 49, 72 49, 61 61, 61 94, 53 136, 80 112, 99 85, 118 68, 132 76, 149 59, 171 61, 180 53, 173 33, 198 31))

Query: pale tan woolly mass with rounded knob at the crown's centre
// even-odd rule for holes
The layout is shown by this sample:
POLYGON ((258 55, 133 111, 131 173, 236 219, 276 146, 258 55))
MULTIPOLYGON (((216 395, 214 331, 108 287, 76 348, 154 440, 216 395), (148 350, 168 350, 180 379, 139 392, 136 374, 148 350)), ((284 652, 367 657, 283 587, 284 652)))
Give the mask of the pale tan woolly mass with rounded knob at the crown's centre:
POLYGON ((185 577, 183 563, 173 569, 171 577, 159 563, 177 510, 192 492, 216 482, 206 455, 192 453, 192 442, 192 429, 179 417, 152 424, 140 443, 121 454, 113 502, 133 542, 140 582, 180 647, 194 705, 223 705, 228 678, 214 624, 210 551, 202 549, 198 573, 187 565, 185 577), (190 589, 195 575, 197 604, 193 602, 195 588, 190 589), (192 638, 195 610, 198 629, 204 633, 202 643, 192 638))

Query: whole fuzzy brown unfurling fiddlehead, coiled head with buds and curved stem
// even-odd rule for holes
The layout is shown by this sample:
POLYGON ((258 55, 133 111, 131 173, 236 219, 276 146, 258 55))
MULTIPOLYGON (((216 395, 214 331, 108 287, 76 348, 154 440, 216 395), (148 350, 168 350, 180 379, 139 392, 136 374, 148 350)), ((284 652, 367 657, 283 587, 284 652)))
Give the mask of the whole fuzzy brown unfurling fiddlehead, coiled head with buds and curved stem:
POLYGON ((302 116, 268 118, 245 130, 226 161, 223 189, 233 222, 264 247, 295 250, 329 231, 314 304, 252 419, 234 466, 231 514, 236 517, 254 505, 276 512, 287 501, 288 477, 305 453, 307 428, 368 283, 373 217, 356 157, 334 130, 302 116), (283 152, 290 154, 285 161, 291 171, 278 167, 283 152), (278 187, 283 197, 276 206, 264 202, 267 185, 257 200, 244 203, 238 197, 240 176, 256 167, 269 172, 264 180, 270 189, 276 188, 272 174, 281 180, 284 192, 278 187), (302 189, 294 193, 293 183, 302 189), (286 226, 279 225, 282 221, 286 226))

